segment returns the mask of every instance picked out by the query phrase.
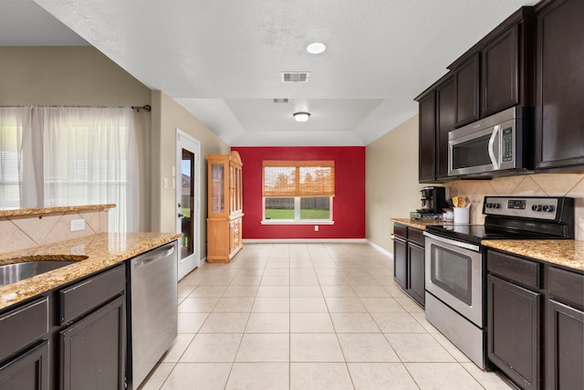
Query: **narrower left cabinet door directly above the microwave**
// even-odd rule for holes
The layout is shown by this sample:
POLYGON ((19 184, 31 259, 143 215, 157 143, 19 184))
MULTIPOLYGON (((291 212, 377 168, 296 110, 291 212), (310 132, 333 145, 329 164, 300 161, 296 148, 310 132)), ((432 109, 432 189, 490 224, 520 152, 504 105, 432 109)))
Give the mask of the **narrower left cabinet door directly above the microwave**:
POLYGON ((479 119, 479 55, 474 54, 454 69, 454 110, 456 127, 479 119))

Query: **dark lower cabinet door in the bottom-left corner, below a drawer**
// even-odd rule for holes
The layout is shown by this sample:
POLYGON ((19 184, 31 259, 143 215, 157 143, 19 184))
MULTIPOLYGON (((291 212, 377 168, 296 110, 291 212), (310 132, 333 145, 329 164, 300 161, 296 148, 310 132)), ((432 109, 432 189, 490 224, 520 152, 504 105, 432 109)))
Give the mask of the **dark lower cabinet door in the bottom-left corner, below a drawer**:
POLYGON ((48 342, 0 367, 0 390, 48 390, 48 342))

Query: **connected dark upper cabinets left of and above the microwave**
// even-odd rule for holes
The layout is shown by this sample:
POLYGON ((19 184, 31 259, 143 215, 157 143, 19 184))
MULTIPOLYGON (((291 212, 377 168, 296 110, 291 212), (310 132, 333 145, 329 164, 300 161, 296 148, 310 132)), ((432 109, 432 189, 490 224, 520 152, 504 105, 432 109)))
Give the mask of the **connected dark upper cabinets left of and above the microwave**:
POLYGON ((525 6, 456 59, 449 73, 415 99, 420 115, 420 183, 454 179, 448 177, 448 132, 513 106, 535 105, 535 46, 535 9, 525 6))

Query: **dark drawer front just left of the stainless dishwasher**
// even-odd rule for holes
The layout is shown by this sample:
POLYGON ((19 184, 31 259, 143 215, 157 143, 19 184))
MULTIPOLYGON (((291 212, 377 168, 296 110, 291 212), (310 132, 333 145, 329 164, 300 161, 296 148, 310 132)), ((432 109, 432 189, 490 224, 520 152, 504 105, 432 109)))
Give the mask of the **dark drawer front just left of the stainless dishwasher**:
POLYGON ((123 265, 59 291, 59 324, 70 322, 119 295, 126 286, 123 265))

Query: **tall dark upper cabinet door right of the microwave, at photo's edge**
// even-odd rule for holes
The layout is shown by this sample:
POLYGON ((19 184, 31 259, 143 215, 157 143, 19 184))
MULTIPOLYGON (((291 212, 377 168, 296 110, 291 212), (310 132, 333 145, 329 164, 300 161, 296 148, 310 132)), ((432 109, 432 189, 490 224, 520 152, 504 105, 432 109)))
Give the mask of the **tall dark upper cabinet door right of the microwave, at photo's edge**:
POLYGON ((584 167, 584 1, 537 5, 536 169, 584 167))

